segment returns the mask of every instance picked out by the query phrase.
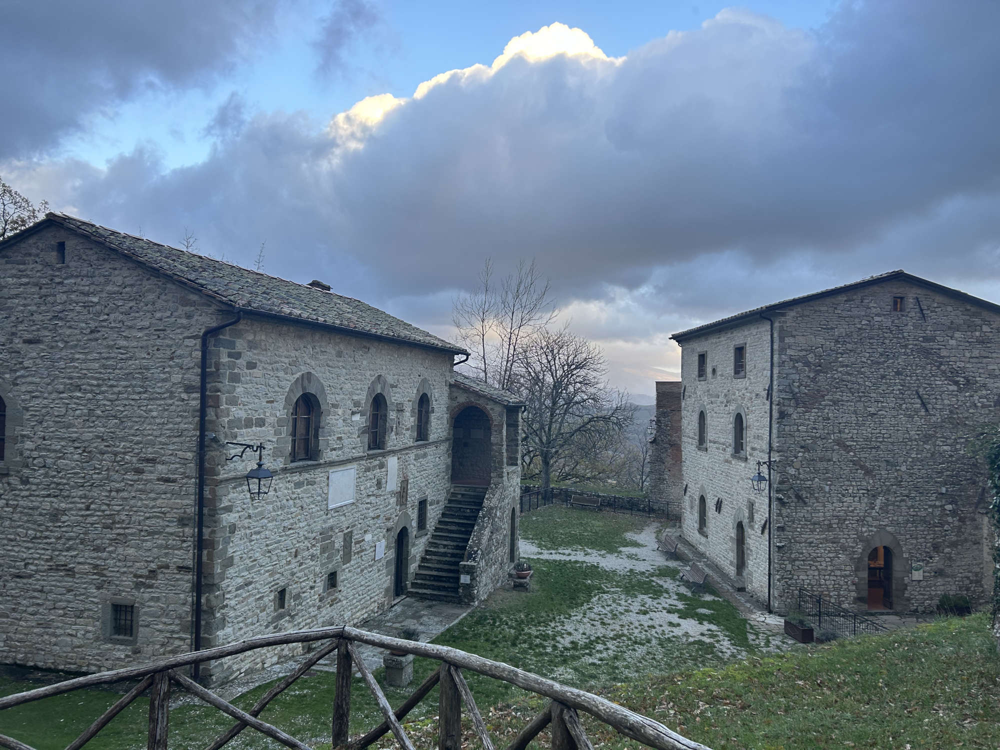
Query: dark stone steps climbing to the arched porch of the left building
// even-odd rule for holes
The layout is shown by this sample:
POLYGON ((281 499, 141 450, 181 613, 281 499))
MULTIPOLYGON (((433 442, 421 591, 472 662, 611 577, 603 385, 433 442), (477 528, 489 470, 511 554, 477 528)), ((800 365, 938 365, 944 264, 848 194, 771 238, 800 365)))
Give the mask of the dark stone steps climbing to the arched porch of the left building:
POLYGON ((458 593, 458 564, 483 507, 486 487, 453 484, 448 502, 431 534, 417 572, 406 593, 424 599, 461 601, 458 593))

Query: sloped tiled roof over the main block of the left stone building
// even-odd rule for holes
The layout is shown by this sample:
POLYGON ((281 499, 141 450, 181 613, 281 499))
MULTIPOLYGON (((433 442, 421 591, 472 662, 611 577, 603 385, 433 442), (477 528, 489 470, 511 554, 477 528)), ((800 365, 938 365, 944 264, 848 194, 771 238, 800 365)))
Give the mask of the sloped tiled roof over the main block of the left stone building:
MULTIPOLYGON (((351 297, 161 245, 67 214, 49 213, 45 218, 246 312, 309 321, 456 354, 466 353, 460 346, 351 297)), ((3 244, 16 237, 8 238, 3 244)))

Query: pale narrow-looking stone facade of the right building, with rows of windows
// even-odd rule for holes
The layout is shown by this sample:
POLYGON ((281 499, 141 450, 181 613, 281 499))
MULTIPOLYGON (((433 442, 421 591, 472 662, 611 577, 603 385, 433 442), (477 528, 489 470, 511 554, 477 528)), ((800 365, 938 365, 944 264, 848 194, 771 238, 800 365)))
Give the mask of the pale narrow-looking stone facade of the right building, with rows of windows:
MULTIPOLYGON (((770 379, 770 325, 757 320, 736 329, 684 341, 681 352, 683 520, 682 534, 737 585, 767 599, 767 495, 755 492, 750 477, 756 461, 767 460, 770 379), (746 370, 734 376, 733 350, 745 346, 746 370), (698 378, 698 355, 706 355, 698 378), (698 445, 698 414, 707 420, 707 444, 698 445), (744 420, 745 450, 733 452, 733 420, 744 420), (705 498, 706 528, 698 528, 699 498, 705 498), (718 508, 718 511, 716 510, 718 508), (746 569, 736 571, 737 524, 746 538, 746 569)), ((659 385, 659 384, 658 384, 659 385)), ((659 393, 657 394, 659 399, 659 393)))

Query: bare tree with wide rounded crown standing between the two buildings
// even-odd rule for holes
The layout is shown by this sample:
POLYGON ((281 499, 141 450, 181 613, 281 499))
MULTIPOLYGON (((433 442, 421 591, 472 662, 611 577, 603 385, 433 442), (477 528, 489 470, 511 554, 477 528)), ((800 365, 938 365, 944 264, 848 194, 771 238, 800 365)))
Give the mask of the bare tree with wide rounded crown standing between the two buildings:
POLYGON ((565 326, 537 331, 519 354, 514 385, 528 405, 525 458, 537 461, 543 488, 554 479, 617 473, 610 459, 634 407, 608 387, 606 375, 600 347, 565 326))

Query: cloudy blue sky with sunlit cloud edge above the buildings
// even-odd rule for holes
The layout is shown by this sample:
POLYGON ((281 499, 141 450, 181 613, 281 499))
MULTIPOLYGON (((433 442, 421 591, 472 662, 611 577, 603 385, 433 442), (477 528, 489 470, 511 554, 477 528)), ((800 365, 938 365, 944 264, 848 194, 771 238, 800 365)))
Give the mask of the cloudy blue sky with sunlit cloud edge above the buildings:
POLYGON ((905 268, 1000 301, 1000 3, 12 0, 0 176, 449 336, 536 258, 614 385, 905 268))

